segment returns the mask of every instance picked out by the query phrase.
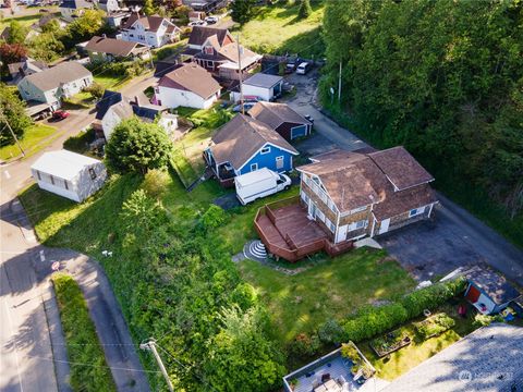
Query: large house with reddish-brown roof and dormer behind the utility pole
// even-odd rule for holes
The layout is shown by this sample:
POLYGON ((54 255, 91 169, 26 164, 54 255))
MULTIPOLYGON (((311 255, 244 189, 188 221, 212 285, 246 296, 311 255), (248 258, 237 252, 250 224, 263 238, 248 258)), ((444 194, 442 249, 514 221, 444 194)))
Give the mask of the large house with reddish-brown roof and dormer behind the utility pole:
POLYGON ((243 78, 255 69, 262 56, 247 48, 238 47, 227 28, 194 26, 188 37, 187 47, 181 53, 183 61, 192 60, 224 81, 240 79, 239 60, 241 60, 243 78), (241 57, 239 57, 239 51, 241 57))

